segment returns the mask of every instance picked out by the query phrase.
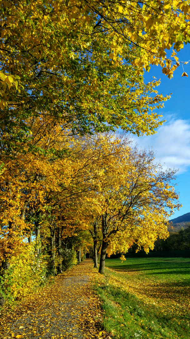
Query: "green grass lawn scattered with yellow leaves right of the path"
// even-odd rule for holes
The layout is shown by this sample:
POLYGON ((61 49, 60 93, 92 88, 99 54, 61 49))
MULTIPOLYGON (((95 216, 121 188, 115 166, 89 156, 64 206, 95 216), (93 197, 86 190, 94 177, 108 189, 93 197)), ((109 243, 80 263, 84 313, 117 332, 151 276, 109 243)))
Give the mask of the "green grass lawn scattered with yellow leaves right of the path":
POLYGON ((190 258, 106 260, 96 290, 117 338, 190 339, 190 258))

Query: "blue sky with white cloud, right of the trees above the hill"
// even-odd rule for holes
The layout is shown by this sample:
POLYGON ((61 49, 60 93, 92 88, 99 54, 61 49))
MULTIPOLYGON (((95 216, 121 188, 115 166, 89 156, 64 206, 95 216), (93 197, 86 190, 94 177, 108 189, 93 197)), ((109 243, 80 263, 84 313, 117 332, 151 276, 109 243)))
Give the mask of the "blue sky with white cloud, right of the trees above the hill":
MULTIPOLYGON (((171 53, 169 51, 168 57, 171 53)), ((189 61, 190 44, 184 45, 177 56, 179 61, 189 61)), ((153 136, 133 137, 143 148, 153 146, 157 162, 165 163, 170 168, 179 168, 176 188, 183 207, 175 211, 171 218, 190 212, 190 62, 183 67, 180 65, 176 69, 172 79, 162 74, 160 66, 152 66, 149 73, 145 72, 145 82, 152 81, 155 76, 161 79, 158 92, 172 95, 164 103, 164 108, 158 110, 166 122, 157 129, 157 133, 153 136), (183 67, 188 78, 182 77, 183 67)))

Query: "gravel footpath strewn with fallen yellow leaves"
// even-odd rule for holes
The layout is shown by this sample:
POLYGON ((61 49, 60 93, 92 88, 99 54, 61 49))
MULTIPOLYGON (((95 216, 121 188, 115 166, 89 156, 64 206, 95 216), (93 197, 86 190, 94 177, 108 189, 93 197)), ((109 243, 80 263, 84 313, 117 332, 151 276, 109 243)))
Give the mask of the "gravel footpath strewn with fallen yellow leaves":
POLYGON ((99 338, 100 301, 90 283, 95 274, 92 260, 86 259, 57 276, 54 284, 2 314, 0 338, 99 338))

